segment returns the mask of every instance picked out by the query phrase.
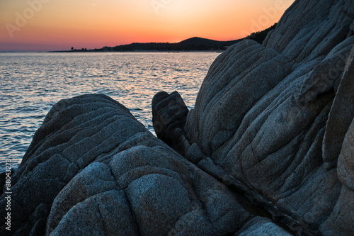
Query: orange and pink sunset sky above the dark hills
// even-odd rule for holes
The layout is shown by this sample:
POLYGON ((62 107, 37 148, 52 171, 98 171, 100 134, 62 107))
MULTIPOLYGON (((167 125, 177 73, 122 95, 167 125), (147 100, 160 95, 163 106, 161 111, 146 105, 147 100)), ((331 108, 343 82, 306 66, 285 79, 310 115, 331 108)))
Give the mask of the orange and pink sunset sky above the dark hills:
POLYGON ((234 40, 278 22, 294 0, 0 0, 0 51, 234 40))

